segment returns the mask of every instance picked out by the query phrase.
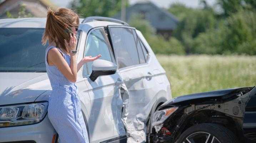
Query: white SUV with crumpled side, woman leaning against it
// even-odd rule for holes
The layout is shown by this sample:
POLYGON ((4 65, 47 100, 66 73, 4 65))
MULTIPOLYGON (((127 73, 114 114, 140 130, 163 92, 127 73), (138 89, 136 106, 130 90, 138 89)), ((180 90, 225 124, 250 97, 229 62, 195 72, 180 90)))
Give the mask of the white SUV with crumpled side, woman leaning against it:
MULTIPOLYGON (((40 42, 45 22, 45 18, 0 20, 0 143, 57 142, 47 117, 52 90, 44 61, 47 45, 40 42)), ((80 22, 77 61, 102 55, 77 72, 89 140, 138 139, 132 131, 148 132, 151 112, 171 99, 165 70, 134 27, 107 17, 80 22)))

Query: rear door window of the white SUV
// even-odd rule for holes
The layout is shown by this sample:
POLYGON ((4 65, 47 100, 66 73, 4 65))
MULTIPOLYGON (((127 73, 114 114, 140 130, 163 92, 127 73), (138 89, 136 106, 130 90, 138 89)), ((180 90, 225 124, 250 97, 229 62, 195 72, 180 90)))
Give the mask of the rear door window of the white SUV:
POLYGON ((130 28, 110 27, 112 45, 119 68, 140 63, 134 35, 130 28))

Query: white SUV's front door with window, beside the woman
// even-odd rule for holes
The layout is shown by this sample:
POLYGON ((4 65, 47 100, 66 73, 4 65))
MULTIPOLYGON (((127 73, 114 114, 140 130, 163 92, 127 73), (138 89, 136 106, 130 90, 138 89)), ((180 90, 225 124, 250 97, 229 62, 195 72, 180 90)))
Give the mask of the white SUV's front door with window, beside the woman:
MULTIPOLYGON (((107 32, 104 27, 97 27, 88 32, 84 56, 96 56, 115 63, 107 32)), ((92 143, 118 140, 125 134, 121 121, 122 99, 120 97, 121 77, 118 72, 113 75, 100 76, 94 82, 89 76, 92 72, 92 62, 82 68, 82 75, 88 87, 91 99, 89 111, 89 132, 92 143), (113 140, 113 138, 115 138, 113 140)))

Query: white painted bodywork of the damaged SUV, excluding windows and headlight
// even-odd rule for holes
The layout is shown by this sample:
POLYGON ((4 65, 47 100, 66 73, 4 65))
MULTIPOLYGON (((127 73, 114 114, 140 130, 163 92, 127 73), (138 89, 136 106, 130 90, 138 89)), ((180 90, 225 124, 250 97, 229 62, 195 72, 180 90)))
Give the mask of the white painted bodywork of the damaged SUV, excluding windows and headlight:
MULTIPOLYGON (((80 19, 81 21, 82 19, 80 19)), ((45 22, 45 18, 1 19, 0 28, 44 28, 45 22)), ((81 23, 77 44, 77 62, 84 57, 90 34, 95 30, 103 30, 104 27, 135 30, 134 27, 109 21, 81 23)), ((115 74, 100 76, 94 82, 89 78, 87 64, 77 73, 76 85, 91 143, 126 141, 126 132, 129 131, 129 128, 130 131, 138 130, 138 128, 145 131, 151 112, 154 112, 160 104, 171 99, 170 83, 165 75, 165 70, 157 61, 141 32, 135 31, 148 51, 146 63, 117 68, 115 74), (122 113, 125 99, 122 97, 120 89, 124 88, 128 95, 126 99, 129 99, 129 108, 124 110, 129 115, 122 113), (125 120, 130 120, 133 125, 125 120), (136 122, 142 124, 143 127, 134 126, 136 122)), ((114 50, 110 54, 112 62, 118 65, 118 58, 114 56, 115 52, 114 50)), ((48 101, 50 93, 51 86, 46 72, 0 72, 0 106, 48 101)), ((50 143, 57 133, 46 114, 45 118, 36 124, 0 127, 0 134, 0 142, 50 143)), ((131 133, 130 136, 132 136, 131 133)))

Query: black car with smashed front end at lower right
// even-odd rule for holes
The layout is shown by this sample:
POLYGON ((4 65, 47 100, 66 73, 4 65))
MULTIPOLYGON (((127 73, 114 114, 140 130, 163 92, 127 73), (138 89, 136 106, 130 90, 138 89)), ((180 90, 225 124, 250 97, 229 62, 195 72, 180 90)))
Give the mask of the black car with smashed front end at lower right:
POLYGON ((256 143, 256 87, 173 98, 150 123, 150 143, 256 143))

